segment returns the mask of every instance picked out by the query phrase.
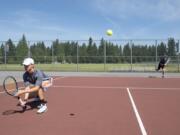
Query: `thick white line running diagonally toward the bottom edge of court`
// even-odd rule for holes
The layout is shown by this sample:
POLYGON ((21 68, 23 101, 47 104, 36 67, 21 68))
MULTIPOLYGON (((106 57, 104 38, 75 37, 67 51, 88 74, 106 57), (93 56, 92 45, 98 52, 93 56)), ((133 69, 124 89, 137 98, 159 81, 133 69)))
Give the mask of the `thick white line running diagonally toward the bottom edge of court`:
POLYGON ((132 95, 131 95, 131 93, 130 93, 130 91, 129 91, 129 88, 127 88, 127 92, 128 92, 128 95, 129 95, 129 98, 130 98, 130 101, 131 101, 131 104, 132 104, 134 113, 135 113, 135 115, 136 115, 136 118, 137 118, 139 127, 140 127, 140 129, 141 129, 141 133, 142 133, 142 135, 147 135, 146 129, 144 128, 143 122, 142 122, 141 117, 140 117, 140 115, 139 115, 139 113, 138 113, 138 110, 137 110, 137 108, 136 108, 136 105, 135 105, 135 102, 134 102, 134 100, 133 100, 133 97, 132 97, 132 95))

